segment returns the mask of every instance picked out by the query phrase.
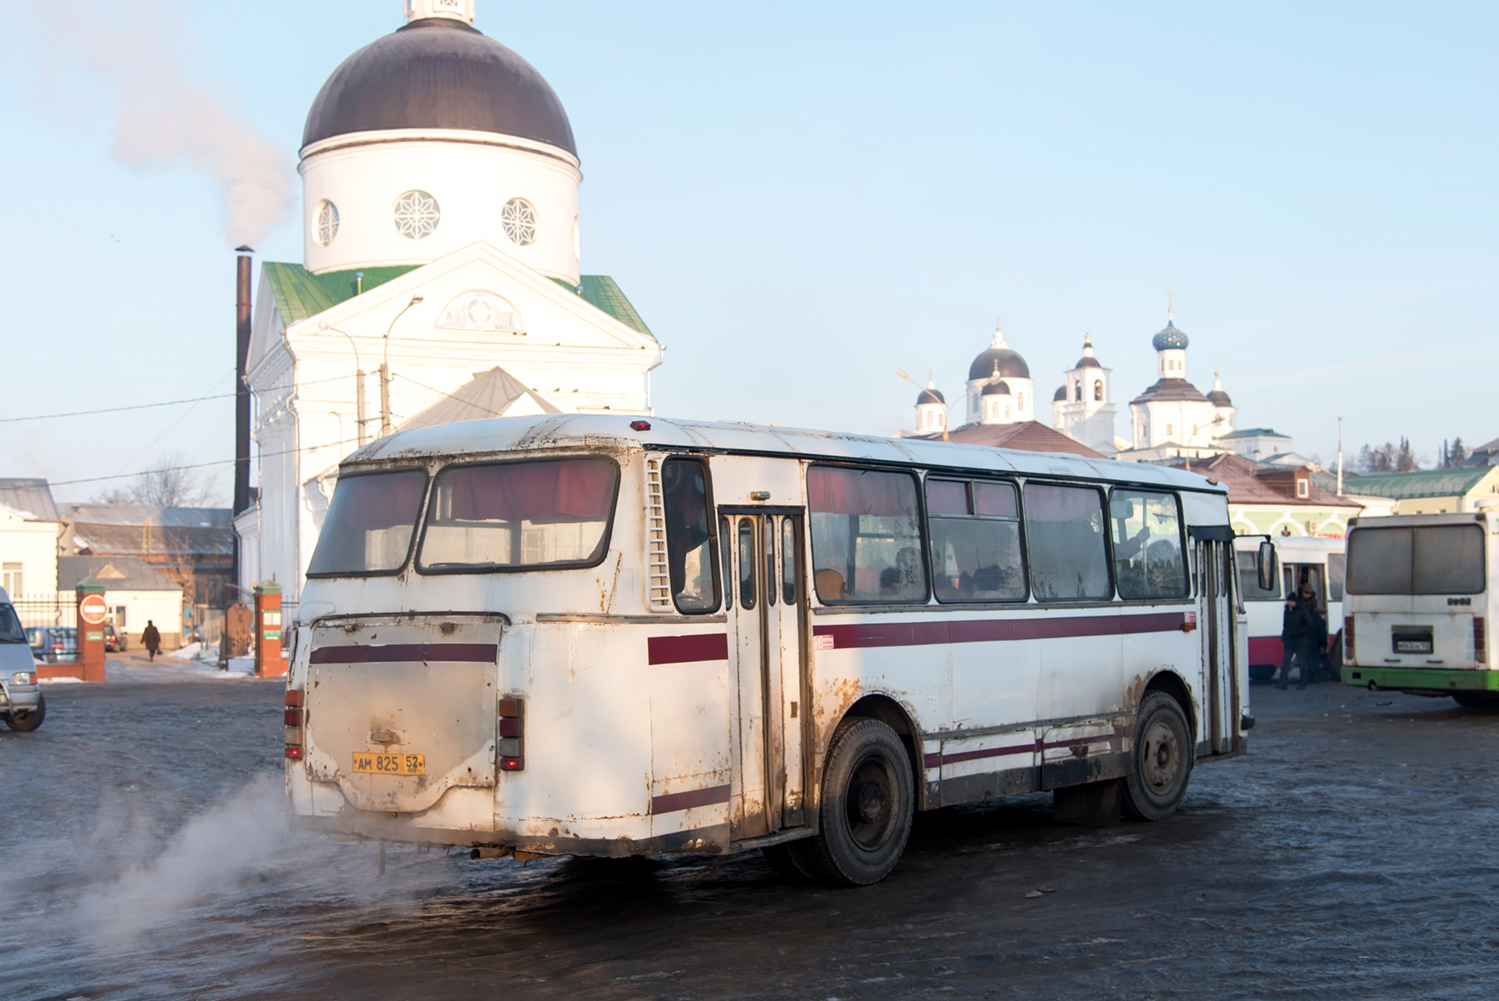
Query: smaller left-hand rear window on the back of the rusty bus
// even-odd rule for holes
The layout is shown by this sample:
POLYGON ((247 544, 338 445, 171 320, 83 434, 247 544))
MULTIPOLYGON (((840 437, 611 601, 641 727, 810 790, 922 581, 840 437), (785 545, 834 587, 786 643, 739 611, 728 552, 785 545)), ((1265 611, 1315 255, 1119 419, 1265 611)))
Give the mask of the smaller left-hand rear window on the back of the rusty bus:
POLYGON ((322 518, 309 577, 396 574, 411 554, 411 536, 427 489, 423 469, 340 477, 322 518))

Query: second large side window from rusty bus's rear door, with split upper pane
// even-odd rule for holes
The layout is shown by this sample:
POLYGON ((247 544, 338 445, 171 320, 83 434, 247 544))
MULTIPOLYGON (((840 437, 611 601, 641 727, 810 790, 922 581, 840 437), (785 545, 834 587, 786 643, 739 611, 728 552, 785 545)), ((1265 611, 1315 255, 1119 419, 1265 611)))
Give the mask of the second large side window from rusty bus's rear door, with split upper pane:
POLYGON ((1013 484, 928 480, 926 535, 938 601, 1025 601, 1013 484))

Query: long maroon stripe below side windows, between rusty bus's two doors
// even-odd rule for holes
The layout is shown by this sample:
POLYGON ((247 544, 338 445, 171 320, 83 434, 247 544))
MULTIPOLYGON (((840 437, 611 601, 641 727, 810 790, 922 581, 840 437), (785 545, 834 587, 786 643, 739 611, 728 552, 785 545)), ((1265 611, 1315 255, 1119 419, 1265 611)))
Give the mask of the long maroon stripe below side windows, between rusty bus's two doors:
POLYGON ((961 619, 958 622, 859 622, 814 626, 812 635, 832 637, 833 649, 934 646, 941 643, 1000 643, 1006 640, 1172 632, 1180 629, 1183 622, 1186 622, 1186 616, 1181 611, 1048 616, 1045 619, 961 619))

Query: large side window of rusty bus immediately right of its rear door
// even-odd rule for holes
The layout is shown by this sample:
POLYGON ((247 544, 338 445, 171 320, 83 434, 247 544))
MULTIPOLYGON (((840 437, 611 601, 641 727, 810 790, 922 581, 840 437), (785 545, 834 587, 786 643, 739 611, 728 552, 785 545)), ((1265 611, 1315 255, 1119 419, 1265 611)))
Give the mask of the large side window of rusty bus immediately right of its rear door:
POLYGON ((914 478, 812 466, 806 509, 812 584, 823 604, 926 601, 914 478))

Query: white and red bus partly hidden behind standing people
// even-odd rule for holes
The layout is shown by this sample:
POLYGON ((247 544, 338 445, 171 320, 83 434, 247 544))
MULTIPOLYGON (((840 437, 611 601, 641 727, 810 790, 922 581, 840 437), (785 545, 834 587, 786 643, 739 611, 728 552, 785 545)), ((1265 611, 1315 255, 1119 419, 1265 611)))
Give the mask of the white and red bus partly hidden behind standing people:
MULTIPOLYGON (((1235 544, 1238 559, 1238 586, 1244 607, 1249 610, 1249 677, 1268 682, 1280 670, 1280 626, 1286 599, 1303 587, 1310 587, 1316 601, 1316 613, 1327 628, 1328 680, 1342 677, 1343 664, 1343 574, 1345 542, 1328 538, 1271 538, 1280 572, 1271 587, 1259 586, 1256 557, 1259 538, 1244 536, 1235 544)), ((1292 668, 1300 677, 1301 667, 1292 668)))

